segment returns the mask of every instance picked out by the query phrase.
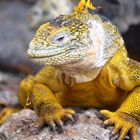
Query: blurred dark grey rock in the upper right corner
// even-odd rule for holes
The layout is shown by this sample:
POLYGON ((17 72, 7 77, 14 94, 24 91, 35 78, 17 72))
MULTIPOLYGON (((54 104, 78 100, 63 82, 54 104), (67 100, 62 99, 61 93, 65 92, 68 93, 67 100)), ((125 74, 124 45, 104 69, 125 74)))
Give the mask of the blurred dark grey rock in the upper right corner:
POLYGON ((106 15, 121 32, 126 32, 131 25, 140 23, 139 0, 92 0, 101 7, 106 15), (111 11, 111 12, 110 12, 111 11))

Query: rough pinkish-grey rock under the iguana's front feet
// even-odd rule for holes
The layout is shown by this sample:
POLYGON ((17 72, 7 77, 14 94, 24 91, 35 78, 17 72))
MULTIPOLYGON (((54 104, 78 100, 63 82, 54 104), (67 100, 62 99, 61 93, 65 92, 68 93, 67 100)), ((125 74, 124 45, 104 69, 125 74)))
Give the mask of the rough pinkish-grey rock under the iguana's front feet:
MULTIPOLYGON (((105 129, 95 109, 81 110, 78 121, 67 125, 62 134, 53 133, 48 127, 34 127, 38 117, 29 109, 11 115, 0 127, 1 140, 109 140, 112 127, 105 129)), ((116 137, 112 138, 115 140, 116 137)), ((126 137, 128 139, 128 137, 126 137)))

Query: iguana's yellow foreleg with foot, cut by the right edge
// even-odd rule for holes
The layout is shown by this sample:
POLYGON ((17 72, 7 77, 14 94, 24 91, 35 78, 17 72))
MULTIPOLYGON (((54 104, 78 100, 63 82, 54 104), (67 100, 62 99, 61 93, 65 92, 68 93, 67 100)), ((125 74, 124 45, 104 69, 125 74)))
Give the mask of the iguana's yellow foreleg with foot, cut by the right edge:
POLYGON ((137 140, 140 126, 140 86, 129 93, 116 112, 102 110, 101 113, 108 118, 104 122, 105 125, 114 125, 113 135, 120 131, 119 140, 123 140, 128 132, 132 140, 137 140))

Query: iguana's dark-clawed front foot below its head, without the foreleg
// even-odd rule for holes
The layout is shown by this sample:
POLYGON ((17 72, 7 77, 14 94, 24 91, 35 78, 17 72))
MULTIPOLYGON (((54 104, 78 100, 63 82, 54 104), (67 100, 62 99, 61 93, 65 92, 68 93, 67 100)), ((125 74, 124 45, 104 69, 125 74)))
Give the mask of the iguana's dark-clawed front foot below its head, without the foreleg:
POLYGON ((61 109, 50 114, 47 113, 42 117, 42 119, 40 118, 40 120, 37 122, 37 127, 41 127, 43 124, 47 123, 52 132, 57 131, 58 133, 62 133, 63 125, 67 124, 68 122, 74 124, 76 120, 77 116, 75 111, 71 109, 61 109))

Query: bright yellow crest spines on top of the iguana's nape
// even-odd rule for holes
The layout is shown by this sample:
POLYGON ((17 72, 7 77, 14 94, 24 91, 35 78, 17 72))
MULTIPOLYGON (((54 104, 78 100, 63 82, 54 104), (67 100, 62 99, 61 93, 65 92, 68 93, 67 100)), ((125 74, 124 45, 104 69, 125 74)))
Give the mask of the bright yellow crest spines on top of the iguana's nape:
POLYGON ((81 11, 85 8, 89 8, 95 10, 96 8, 93 6, 91 0, 81 0, 78 6, 75 8, 75 11, 81 11))

